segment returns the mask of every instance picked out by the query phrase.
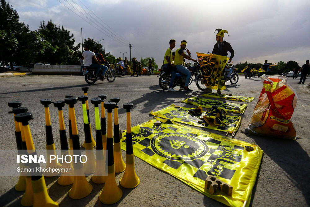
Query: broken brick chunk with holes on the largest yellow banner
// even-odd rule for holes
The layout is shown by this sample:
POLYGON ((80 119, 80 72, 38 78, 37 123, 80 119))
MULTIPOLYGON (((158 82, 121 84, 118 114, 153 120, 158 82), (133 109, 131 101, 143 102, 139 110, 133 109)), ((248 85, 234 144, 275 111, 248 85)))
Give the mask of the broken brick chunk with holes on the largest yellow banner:
POLYGON ((232 195, 232 186, 221 181, 219 178, 214 177, 213 175, 209 175, 206 178, 205 189, 209 189, 210 194, 214 194, 219 189, 228 196, 232 195))

